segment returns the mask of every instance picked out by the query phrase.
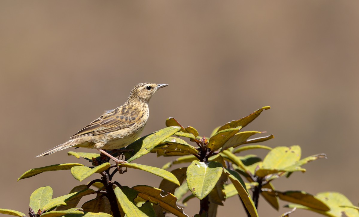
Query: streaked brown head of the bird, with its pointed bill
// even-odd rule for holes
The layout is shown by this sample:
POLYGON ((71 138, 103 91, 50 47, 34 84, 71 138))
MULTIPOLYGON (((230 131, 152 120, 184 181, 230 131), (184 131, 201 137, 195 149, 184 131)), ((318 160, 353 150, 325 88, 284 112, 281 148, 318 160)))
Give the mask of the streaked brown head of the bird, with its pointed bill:
POLYGON ((139 99, 141 101, 149 102, 153 94, 160 88, 167 86, 168 84, 155 84, 155 83, 140 83, 137 84, 131 91, 130 99, 139 99))

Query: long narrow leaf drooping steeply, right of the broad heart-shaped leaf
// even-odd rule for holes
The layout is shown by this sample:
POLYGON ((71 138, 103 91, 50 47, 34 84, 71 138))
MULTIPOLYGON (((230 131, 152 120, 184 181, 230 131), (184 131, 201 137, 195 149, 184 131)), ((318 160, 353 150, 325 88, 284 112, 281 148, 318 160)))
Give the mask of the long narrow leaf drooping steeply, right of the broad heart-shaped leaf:
POLYGON ((247 208, 251 216, 258 217, 256 206, 254 205, 251 196, 248 194, 246 184, 244 184, 241 176, 239 176, 237 172, 228 169, 224 169, 224 172, 233 183, 234 187, 237 189, 239 197, 241 197, 244 206, 247 208))

